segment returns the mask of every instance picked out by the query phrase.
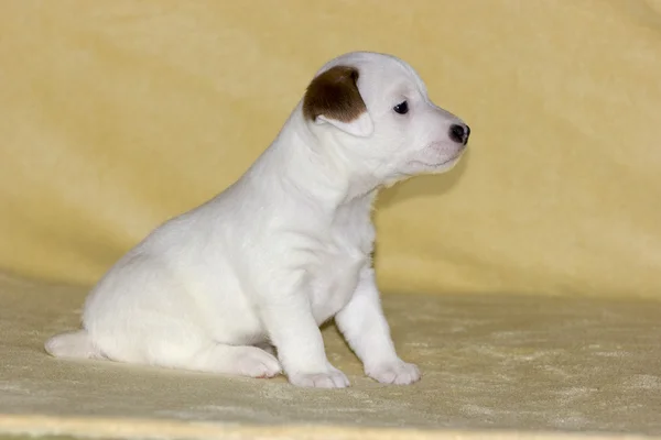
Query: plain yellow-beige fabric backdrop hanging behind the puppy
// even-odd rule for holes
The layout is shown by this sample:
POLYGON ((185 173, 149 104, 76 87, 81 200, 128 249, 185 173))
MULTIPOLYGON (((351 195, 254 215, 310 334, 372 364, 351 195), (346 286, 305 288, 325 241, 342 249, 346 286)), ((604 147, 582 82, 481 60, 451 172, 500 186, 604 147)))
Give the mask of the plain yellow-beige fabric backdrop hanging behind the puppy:
POLYGON ((89 284, 235 180, 314 72, 395 54, 473 129, 382 195, 387 290, 661 297, 661 1, 0 3, 0 268, 89 284))

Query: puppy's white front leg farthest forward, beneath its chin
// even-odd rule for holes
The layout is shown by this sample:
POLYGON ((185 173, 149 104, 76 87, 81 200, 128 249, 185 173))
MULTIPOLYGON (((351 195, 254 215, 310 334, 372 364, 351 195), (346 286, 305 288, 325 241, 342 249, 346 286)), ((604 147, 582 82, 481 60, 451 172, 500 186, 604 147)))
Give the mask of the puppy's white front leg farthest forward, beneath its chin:
POLYGON ((362 361, 368 376, 398 385, 420 380, 418 366, 397 355, 371 267, 362 270, 354 297, 335 316, 335 322, 362 361))

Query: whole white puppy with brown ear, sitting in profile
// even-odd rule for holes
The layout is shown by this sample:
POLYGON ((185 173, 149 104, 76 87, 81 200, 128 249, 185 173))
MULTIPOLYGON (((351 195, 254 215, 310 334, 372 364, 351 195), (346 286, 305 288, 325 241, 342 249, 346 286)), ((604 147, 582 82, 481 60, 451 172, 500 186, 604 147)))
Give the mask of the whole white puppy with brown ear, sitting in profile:
POLYGON ((319 331, 334 317, 367 375, 418 381, 381 309, 370 211, 379 188, 452 168, 468 135, 401 59, 330 61, 247 173, 124 255, 46 351, 345 387, 319 331))

